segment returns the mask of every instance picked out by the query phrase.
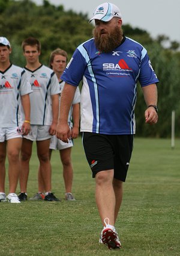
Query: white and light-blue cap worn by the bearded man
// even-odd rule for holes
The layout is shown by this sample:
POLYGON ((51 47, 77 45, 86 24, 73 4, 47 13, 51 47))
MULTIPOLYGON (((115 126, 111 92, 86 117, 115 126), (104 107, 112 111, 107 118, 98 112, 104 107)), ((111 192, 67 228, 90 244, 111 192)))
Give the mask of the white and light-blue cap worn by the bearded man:
POLYGON ((93 15, 94 16, 89 20, 89 22, 93 19, 99 19, 106 22, 111 20, 113 17, 119 17, 121 19, 119 8, 110 2, 104 2, 104 4, 98 5, 98 7, 95 8, 93 15))

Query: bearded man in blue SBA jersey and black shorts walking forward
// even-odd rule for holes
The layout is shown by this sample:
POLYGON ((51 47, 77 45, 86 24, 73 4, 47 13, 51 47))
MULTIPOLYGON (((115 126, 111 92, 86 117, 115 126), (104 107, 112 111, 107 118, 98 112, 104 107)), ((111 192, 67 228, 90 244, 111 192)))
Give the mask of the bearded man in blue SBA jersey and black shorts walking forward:
POLYGON ((83 81, 81 122, 83 147, 95 178, 95 199, 103 230, 100 243, 121 248, 115 223, 133 150, 134 108, 137 80, 147 108, 145 122, 157 123, 157 76, 147 51, 122 33, 119 8, 109 2, 95 8, 94 38, 74 52, 61 79, 61 96, 56 136, 68 143, 71 131, 67 118, 76 87, 83 81))

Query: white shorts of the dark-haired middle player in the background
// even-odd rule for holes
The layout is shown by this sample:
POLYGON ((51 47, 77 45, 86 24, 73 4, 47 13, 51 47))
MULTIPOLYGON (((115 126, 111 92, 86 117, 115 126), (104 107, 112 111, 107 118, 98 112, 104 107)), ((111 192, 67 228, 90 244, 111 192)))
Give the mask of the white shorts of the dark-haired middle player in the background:
POLYGON ((49 134, 50 125, 31 125, 31 131, 23 138, 32 140, 35 142, 37 140, 48 140, 51 139, 52 136, 49 134))

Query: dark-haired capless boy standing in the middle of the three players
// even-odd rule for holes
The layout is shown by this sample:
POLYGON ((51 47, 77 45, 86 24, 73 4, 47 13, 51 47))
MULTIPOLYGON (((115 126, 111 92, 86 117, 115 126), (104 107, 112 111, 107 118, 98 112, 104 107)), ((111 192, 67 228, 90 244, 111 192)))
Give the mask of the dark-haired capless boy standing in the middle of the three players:
POLYGON ((51 192, 51 166, 49 160, 50 138, 56 133, 59 114, 59 83, 55 72, 39 61, 41 44, 38 39, 29 37, 22 42, 26 58, 25 70, 28 74, 33 93, 31 101, 31 133, 23 137, 20 158, 20 201, 27 199, 29 160, 32 154, 32 143, 37 144, 37 156, 40 161, 43 178, 45 201, 58 201, 51 192))

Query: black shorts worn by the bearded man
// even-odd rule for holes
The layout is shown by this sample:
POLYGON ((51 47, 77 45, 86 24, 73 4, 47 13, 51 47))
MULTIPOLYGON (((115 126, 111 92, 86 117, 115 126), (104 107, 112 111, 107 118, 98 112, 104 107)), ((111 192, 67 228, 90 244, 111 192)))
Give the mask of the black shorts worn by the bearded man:
POLYGON ((114 170, 114 178, 125 181, 133 151, 133 135, 82 134, 92 177, 101 170, 114 170))

